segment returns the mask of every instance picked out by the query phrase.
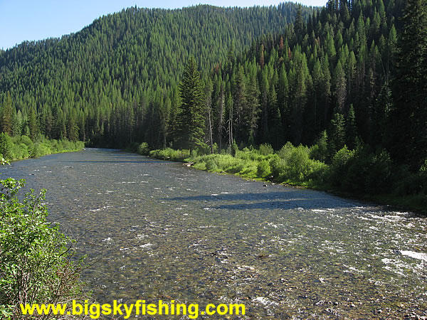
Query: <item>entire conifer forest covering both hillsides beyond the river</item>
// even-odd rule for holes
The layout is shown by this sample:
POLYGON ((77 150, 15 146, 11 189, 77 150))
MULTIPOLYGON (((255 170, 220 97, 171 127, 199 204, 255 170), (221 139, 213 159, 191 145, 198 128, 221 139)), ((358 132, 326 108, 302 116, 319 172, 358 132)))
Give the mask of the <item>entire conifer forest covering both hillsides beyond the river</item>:
MULTIPOLYGON (((275 154, 258 176, 425 206, 426 69, 426 0, 130 8, 1 52, 0 125, 144 154, 275 154), (290 146, 307 174, 284 174, 290 146)), ((227 171, 214 159, 202 169, 227 171)))

